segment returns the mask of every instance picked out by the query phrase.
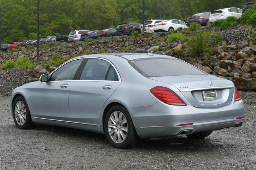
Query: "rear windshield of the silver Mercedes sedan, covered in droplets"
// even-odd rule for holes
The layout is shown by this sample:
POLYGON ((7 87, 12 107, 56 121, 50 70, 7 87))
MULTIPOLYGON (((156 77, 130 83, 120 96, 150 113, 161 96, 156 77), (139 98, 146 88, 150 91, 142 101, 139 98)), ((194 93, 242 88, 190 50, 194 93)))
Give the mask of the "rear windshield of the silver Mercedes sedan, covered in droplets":
POLYGON ((201 70, 178 59, 145 58, 134 59, 129 63, 145 77, 204 75, 201 70))

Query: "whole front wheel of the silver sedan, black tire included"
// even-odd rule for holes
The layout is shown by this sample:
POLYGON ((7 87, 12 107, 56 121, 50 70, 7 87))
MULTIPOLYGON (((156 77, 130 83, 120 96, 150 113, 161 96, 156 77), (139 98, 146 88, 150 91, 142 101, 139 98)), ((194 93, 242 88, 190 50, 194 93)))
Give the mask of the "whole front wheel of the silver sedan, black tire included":
POLYGON ((28 104, 23 97, 18 97, 14 100, 12 117, 16 127, 19 129, 31 129, 35 126, 31 119, 28 104))

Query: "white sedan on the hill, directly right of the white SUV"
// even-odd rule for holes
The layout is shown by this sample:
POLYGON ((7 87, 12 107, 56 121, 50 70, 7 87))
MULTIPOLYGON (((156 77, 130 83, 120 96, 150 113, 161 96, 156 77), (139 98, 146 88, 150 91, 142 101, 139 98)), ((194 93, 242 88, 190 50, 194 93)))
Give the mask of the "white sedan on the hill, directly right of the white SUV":
POLYGON ((187 24, 180 20, 165 20, 154 25, 154 32, 169 32, 177 29, 188 28, 187 24))

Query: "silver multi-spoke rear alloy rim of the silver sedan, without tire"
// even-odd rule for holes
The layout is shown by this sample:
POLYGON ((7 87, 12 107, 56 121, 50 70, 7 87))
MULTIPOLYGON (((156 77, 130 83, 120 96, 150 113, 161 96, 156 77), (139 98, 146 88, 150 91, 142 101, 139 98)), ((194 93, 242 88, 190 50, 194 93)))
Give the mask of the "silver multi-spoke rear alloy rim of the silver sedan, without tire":
POLYGON ((122 143, 127 136, 128 125, 121 111, 114 111, 108 118, 108 134, 115 143, 122 143))

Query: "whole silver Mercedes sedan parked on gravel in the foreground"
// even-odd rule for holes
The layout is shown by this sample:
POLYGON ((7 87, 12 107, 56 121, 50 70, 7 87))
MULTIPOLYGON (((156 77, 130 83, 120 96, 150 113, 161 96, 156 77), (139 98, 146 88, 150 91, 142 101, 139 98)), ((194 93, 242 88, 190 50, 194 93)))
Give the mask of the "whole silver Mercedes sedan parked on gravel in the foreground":
POLYGON ((20 129, 48 124, 106 134, 117 148, 139 138, 239 127, 244 104, 232 81, 174 57, 144 53, 76 57, 40 81, 15 88, 12 116, 20 129))

